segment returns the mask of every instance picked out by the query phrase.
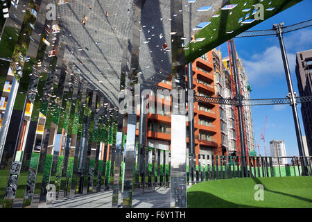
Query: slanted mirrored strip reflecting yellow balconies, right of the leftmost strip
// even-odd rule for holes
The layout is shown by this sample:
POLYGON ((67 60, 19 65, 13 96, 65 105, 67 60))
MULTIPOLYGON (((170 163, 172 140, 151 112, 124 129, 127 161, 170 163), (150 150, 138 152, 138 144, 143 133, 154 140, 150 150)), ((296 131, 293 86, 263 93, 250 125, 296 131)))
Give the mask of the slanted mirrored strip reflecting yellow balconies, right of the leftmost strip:
MULTIPOLYGON (((48 24, 46 24, 48 25, 48 24)), ((35 29, 36 31, 36 29, 35 29)), ((45 31, 42 31, 42 36, 45 31)), ((30 51, 31 47, 35 46, 35 44, 31 45, 28 51, 30 51)), ((35 46, 37 47, 37 46, 35 46)), ((22 182, 19 189, 25 190, 26 186, 26 200, 28 200, 29 196, 32 196, 31 191, 33 190, 31 182, 35 177, 35 169, 37 168, 37 151, 35 151, 37 147, 37 142, 41 141, 44 123, 44 116, 40 115, 40 107, 46 108, 48 102, 44 103, 44 94, 46 92, 46 87, 51 88, 51 82, 53 82, 53 72, 55 69, 55 61, 58 58, 58 55, 54 58, 44 57, 45 52, 49 51, 49 47, 46 48, 43 41, 40 41, 40 46, 37 51, 37 57, 35 58, 34 66, 31 67, 33 69, 31 76, 31 83, 28 85, 28 94, 26 108, 24 108, 24 119, 23 124, 21 125, 19 136, 17 137, 17 157, 21 160, 21 173, 20 180, 22 182), (42 63, 47 63, 49 71, 47 69, 43 69, 44 65, 42 63), (44 84, 46 86, 44 86, 44 84), (34 93, 35 92, 35 93, 34 93), (45 104, 45 105, 44 105, 45 104), (35 146, 35 148, 34 148, 35 146), (21 155, 19 155, 19 153, 21 155), (29 167, 29 172, 28 172, 29 167), (29 173, 29 177, 27 183, 25 184, 27 179, 27 172, 29 173), (26 178, 24 178, 26 177, 26 178)), ((35 50, 31 50, 35 51, 35 50)), ((61 56, 62 57, 62 56, 61 56)), ((31 58, 32 59, 32 58, 31 58)), ((41 142, 40 142, 41 143, 41 142)), ((17 194, 23 194, 22 191, 17 192, 17 194)), ((23 196, 17 196, 17 198, 21 199, 23 196)), ((28 205, 28 201, 24 202, 28 205)))

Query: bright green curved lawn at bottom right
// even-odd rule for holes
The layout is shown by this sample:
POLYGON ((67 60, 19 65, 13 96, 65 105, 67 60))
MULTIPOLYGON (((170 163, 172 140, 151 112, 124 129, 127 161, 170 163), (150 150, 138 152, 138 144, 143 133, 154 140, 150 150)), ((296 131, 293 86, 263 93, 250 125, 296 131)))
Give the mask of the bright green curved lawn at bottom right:
POLYGON ((201 182, 187 189, 189 208, 312 207, 312 177, 235 178, 201 182), (264 187, 263 200, 254 194, 264 187))

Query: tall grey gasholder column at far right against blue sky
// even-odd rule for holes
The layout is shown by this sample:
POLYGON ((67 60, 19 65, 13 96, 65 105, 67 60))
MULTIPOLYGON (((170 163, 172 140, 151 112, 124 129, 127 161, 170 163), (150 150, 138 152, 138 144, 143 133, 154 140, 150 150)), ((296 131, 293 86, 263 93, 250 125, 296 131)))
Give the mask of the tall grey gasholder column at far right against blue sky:
MULTIPOLYGON (((296 130, 296 135, 297 135, 297 144, 299 148, 299 153, 300 156, 305 156, 304 154, 304 146, 302 142, 302 134, 301 134, 301 128, 300 128, 300 123, 299 123, 299 118, 298 118, 298 113, 297 113, 297 102, 295 99, 295 92, 293 91, 293 82, 291 81, 291 71, 289 70, 289 65, 288 65, 288 59, 287 59, 287 54, 286 54, 286 49, 284 45, 284 40, 283 40, 283 31, 282 27, 284 26, 284 23, 281 24, 274 24, 273 28, 277 31, 277 36, 279 37, 279 46, 281 48, 281 58, 283 58, 283 64, 284 64, 284 69, 285 69, 285 74, 286 74, 286 80, 287 80, 287 85, 288 85, 288 97, 291 99, 291 108, 293 110, 293 121, 295 122, 295 130, 296 130)), ((304 175, 306 175, 306 162, 303 162, 304 164, 304 175)))

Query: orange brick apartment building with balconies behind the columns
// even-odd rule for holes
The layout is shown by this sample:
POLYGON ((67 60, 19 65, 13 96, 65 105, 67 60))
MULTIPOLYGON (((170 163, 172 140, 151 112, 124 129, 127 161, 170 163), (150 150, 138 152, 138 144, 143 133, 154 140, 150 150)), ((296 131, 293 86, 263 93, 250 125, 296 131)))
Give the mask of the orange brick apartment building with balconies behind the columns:
MULTIPOLYGON (((170 91, 172 89, 171 76, 162 80, 158 86, 170 91)), ((209 51, 193 62, 193 89, 198 96, 230 97, 229 71, 223 64, 220 51, 216 49, 209 51)), ((164 98, 155 99, 155 108, 150 109, 147 114, 146 145, 170 150, 171 114, 164 112, 164 103, 170 103, 170 101, 164 98), (163 110, 161 114, 156 114, 156 103, 159 101, 163 105, 163 110)), ((124 119, 124 123, 126 122, 127 119, 124 119)), ((224 105, 194 103, 195 153, 236 155, 236 147, 239 146, 236 146, 233 122, 232 108, 226 110, 224 105)), ((123 132, 126 133, 126 127, 123 128, 123 132)), ((188 135, 189 122, 187 122, 188 135)), ((136 137, 138 142, 139 114, 137 114, 136 137)), ((189 148, 189 138, 187 138, 187 148, 189 148)))

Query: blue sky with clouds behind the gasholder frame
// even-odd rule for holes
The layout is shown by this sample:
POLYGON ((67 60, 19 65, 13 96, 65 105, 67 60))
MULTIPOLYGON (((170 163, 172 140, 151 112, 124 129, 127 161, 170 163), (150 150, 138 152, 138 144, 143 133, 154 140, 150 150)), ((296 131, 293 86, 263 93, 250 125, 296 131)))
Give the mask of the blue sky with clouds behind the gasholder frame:
MULTIPOLYGON (((270 29, 273 24, 281 22, 284 22, 285 26, 289 26, 312 19, 311 8, 312 1, 304 0, 250 30, 270 29)), ((293 87, 299 94, 295 76, 295 53, 312 49, 312 27, 284 34, 284 42, 291 68, 293 87)), ((252 86, 251 99, 284 98, 288 94, 288 88, 278 38, 275 36, 236 38, 235 43, 236 51, 243 60, 243 66, 252 86)), ((221 45, 221 51, 223 57, 227 56, 226 43, 221 45)), ((297 105, 297 108, 300 114, 302 135, 305 135, 300 105, 297 105)), ((289 105, 260 105, 252 107, 252 117, 255 143, 259 142, 260 144, 261 155, 264 155, 264 149, 263 142, 259 138, 267 115, 267 154, 270 155, 270 140, 284 139, 286 154, 288 156, 299 155, 291 107, 289 105)))

